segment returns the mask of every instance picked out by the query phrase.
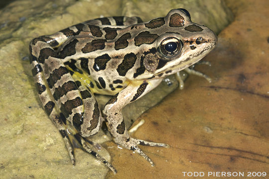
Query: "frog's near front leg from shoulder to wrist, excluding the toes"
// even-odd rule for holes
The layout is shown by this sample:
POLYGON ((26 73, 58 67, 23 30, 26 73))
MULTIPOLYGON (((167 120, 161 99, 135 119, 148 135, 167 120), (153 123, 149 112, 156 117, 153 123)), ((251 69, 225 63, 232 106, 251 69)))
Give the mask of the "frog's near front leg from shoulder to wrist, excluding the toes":
POLYGON ((157 87, 161 82, 162 79, 157 79, 142 81, 138 85, 131 84, 114 95, 105 104, 103 113, 106 115, 108 129, 116 143, 123 145, 124 141, 128 141, 129 139, 129 134, 121 113, 122 108, 157 87))

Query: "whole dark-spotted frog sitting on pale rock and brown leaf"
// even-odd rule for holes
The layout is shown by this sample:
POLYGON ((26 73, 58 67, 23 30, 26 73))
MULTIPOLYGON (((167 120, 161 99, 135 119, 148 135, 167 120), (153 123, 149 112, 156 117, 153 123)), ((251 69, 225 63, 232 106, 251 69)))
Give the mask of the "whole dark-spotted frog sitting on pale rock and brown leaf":
POLYGON ((42 106, 61 133, 75 166, 74 141, 113 173, 116 169, 89 145, 105 123, 114 142, 154 162, 139 145, 169 147, 130 136, 122 109, 155 89, 167 76, 190 68, 216 45, 216 34, 191 21, 186 9, 143 22, 113 16, 88 20, 31 40, 30 64, 42 106), (101 110, 94 94, 111 95, 101 110))

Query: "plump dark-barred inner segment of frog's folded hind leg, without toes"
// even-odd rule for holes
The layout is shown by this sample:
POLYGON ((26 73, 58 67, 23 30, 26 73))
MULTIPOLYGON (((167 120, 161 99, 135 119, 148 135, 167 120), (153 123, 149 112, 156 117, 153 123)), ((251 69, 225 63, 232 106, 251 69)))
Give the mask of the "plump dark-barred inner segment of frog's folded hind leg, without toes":
POLYGON ((98 132, 101 115, 90 90, 73 79, 60 59, 49 57, 44 66, 51 93, 67 120, 83 137, 98 132))

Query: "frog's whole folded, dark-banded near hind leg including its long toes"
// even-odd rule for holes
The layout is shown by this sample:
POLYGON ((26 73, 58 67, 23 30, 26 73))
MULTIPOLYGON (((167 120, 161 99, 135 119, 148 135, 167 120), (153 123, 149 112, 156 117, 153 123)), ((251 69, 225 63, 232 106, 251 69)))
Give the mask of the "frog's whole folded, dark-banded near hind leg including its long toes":
POLYGON ((74 146, 67 131, 67 121, 72 121, 72 125, 79 131, 75 135, 83 149, 115 173, 116 171, 111 164, 91 150, 83 137, 80 136, 83 133, 80 129, 85 129, 83 125, 87 123, 86 118, 90 118, 88 120, 90 125, 89 128, 86 127, 88 133, 84 134, 92 135, 100 127, 100 110, 93 96, 91 97, 90 91, 85 90, 83 86, 78 87, 79 84, 74 81, 62 59, 57 58, 54 49, 44 40, 36 38, 31 41, 30 63, 42 105, 62 134, 72 164, 75 165, 74 146), (91 103, 90 100, 95 102, 91 103), (85 113, 90 116, 87 117, 84 115, 85 113))

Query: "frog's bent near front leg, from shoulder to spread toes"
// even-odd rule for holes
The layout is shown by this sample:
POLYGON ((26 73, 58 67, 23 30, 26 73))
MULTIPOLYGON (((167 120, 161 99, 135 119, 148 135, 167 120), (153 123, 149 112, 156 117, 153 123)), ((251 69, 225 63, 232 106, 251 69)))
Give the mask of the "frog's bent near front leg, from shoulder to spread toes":
POLYGON ((103 113, 106 115, 107 127, 113 136, 115 143, 137 152, 144 157, 152 166, 154 163, 152 160, 143 153, 143 151, 137 146, 157 146, 157 147, 169 147, 167 144, 148 142, 140 139, 134 139, 130 137, 126 126, 123 121, 121 113, 122 108, 130 102, 133 102, 148 93, 150 90, 157 87, 162 82, 162 79, 156 79, 151 81, 142 81, 140 83, 130 84, 125 89, 115 94, 104 106, 103 113))

